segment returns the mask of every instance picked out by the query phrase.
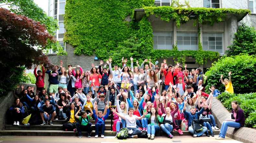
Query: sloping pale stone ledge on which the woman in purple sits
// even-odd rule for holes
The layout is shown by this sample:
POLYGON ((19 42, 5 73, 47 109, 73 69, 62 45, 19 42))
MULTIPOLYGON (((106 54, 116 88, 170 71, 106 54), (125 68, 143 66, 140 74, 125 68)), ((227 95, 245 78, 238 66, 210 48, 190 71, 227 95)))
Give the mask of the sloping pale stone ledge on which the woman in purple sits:
MULTIPOLYGON (((231 118, 230 113, 222 105, 222 103, 216 98, 213 98, 211 113, 214 115, 215 122, 217 125, 219 125, 219 128, 221 127, 221 124, 225 119, 231 118)), ((227 133, 226 133, 227 137, 233 138, 241 142, 246 142, 246 143, 256 143, 255 135, 256 135, 256 129, 247 128, 247 127, 242 127, 239 129, 228 127, 227 133)))

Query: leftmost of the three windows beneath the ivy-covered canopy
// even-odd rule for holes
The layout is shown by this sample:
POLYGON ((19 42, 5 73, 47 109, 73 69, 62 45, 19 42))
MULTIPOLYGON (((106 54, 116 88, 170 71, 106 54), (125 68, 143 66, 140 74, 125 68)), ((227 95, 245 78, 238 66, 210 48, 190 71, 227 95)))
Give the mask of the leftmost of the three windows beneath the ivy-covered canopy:
POLYGON ((154 49, 172 49, 171 32, 153 32, 154 49))

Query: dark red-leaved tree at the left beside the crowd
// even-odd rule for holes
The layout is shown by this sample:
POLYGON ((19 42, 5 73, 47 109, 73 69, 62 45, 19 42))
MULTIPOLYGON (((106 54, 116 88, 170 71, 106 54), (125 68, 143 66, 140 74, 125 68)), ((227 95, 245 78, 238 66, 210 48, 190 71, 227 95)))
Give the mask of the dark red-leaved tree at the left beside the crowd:
POLYGON ((31 68, 32 64, 52 66, 41 50, 33 48, 45 47, 49 41, 55 42, 55 39, 45 25, 0 8, 0 94, 20 82, 24 69, 31 68))

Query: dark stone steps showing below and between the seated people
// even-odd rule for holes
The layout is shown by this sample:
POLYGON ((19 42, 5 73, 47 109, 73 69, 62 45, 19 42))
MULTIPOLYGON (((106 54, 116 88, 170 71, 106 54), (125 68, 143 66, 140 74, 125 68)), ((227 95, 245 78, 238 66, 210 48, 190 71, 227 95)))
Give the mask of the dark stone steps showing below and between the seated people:
MULTIPOLYGON (((53 125, 5 125, 5 129, 0 131, 0 136, 78 136, 74 131, 64 131, 62 125, 65 120, 53 120, 53 125)), ((92 128, 94 129, 95 120, 90 120, 92 123, 92 128)), ((219 130, 214 130, 214 134, 218 135, 219 130)), ((111 116, 105 120, 105 136, 115 136, 116 132, 111 131, 111 116)), ((163 131, 157 133, 157 135, 166 136, 163 131)), ((180 136, 178 132, 173 131, 174 136, 180 136)), ((190 135, 188 131, 183 131, 183 135, 190 135)), ((95 136, 95 130, 92 131, 91 136, 95 136)))

